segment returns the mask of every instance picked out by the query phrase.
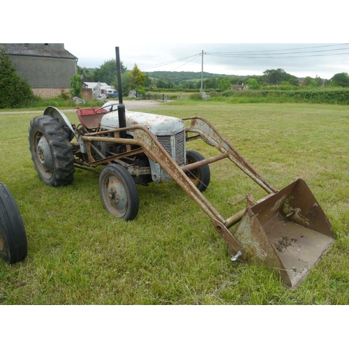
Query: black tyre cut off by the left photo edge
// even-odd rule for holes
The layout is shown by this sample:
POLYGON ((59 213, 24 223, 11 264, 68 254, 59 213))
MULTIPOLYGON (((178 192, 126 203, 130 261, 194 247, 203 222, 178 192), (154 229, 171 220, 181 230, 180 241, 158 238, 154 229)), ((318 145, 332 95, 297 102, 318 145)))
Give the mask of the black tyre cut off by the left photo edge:
POLYGON ((27 252, 22 216, 7 186, 0 183, 0 258, 13 264, 24 260, 27 252))

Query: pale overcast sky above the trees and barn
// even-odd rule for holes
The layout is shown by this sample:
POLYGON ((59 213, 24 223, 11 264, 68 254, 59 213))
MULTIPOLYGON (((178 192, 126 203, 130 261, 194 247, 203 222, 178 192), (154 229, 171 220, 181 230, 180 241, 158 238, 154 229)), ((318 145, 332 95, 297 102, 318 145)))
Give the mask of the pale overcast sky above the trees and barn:
POLYGON ((349 72, 348 43, 64 43, 84 68, 99 68, 115 59, 119 47, 124 66, 142 71, 194 71, 226 75, 263 75, 285 70, 297 77, 330 79, 349 72), (203 52, 203 64, 202 64, 203 52))

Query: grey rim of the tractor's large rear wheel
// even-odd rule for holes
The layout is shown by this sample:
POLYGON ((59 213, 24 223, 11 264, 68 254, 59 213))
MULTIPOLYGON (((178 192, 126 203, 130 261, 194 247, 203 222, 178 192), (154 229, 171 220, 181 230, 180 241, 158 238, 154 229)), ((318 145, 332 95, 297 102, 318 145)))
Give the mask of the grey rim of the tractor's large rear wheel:
POLYGON ((34 149, 35 160, 38 165, 38 170, 46 179, 50 179, 53 174, 53 160, 50 145, 48 144, 45 136, 37 131, 34 133, 34 149))

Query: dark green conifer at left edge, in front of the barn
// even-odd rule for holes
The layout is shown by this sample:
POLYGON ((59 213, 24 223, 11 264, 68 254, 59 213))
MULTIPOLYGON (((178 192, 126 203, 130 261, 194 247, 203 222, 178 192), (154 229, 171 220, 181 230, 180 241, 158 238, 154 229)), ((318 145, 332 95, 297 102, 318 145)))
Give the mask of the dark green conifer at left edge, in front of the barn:
POLYGON ((36 98, 27 80, 20 77, 0 47, 0 108, 23 107, 36 98))

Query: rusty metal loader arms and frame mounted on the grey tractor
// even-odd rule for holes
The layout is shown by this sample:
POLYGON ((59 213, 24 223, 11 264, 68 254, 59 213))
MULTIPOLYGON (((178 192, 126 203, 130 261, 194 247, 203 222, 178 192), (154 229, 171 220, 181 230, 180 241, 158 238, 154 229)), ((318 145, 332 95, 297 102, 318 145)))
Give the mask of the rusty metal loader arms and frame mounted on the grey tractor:
MULTIPOLYGON (((267 180, 261 174, 259 174, 241 154, 239 154, 237 149, 235 149, 235 147, 233 147, 232 144, 230 144, 230 142, 226 140, 209 121, 207 121, 207 119, 203 117, 188 117, 182 120, 191 121, 191 125, 185 129, 186 142, 194 139, 201 139, 207 144, 210 144, 212 147, 216 147, 218 151, 221 151, 221 154, 180 167, 163 148, 161 143, 158 142, 156 136, 154 136, 146 127, 130 126, 126 128, 115 128, 114 130, 86 133, 82 135, 82 139, 88 145, 87 156, 89 159, 89 163, 82 163, 82 165, 88 167, 96 166, 103 163, 111 163, 112 161, 121 161, 122 158, 144 153, 149 159, 161 165, 161 167, 168 172, 168 174, 170 174, 172 179, 176 181, 177 184, 191 197, 191 199, 194 200, 195 203, 205 212, 205 214, 211 218, 211 222, 218 234, 220 234, 223 239, 228 242, 234 251, 239 251, 242 253, 242 255, 239 255, 239 259, 244 260, 246 258, 244 248, 239 244, 237 239, 235 239, 228 229, 241 220, 246 212, 246 209, 237 212, 231 217, 224 218, 218 212, 216 207, 214 207, 214 205, 212 205, 211 202, 205 198, 205 195, 198 190, 195 184, 193 184, 191 179, 186 175, 186 172, 199 168, 202 165, 207 165, 209 163, 214 163, 224 158, 228 158, 269 194, 266 198, 268 198, 270 195, 274 195, 274 193, 277 193, 277 190, 271 184, 269 184, 267 180), (133 131, 133 138, 120 138, 120 133, 126 133, 127 131, 133 131), (107 136, 110 135, 110 133, 112 133, 114 137, 107 136), (91 147, 93 146, 92 142, 124 144, 126 145, 126 151, 124 153, 108 157, 100 154, 103 158, 94 160, 91 154, 91 147), (131 146, 136 146, 137 148, 131 150, 131 146)), ((94 150, 98 152, 98 149, 94 150)), ((261 199, 260 201, 262 200, 265 200, 265 198, 261 199)), ((255 201, 252 199, 250 199, 249 202, 252 202, 252 204, 255 203, 255 201)))

